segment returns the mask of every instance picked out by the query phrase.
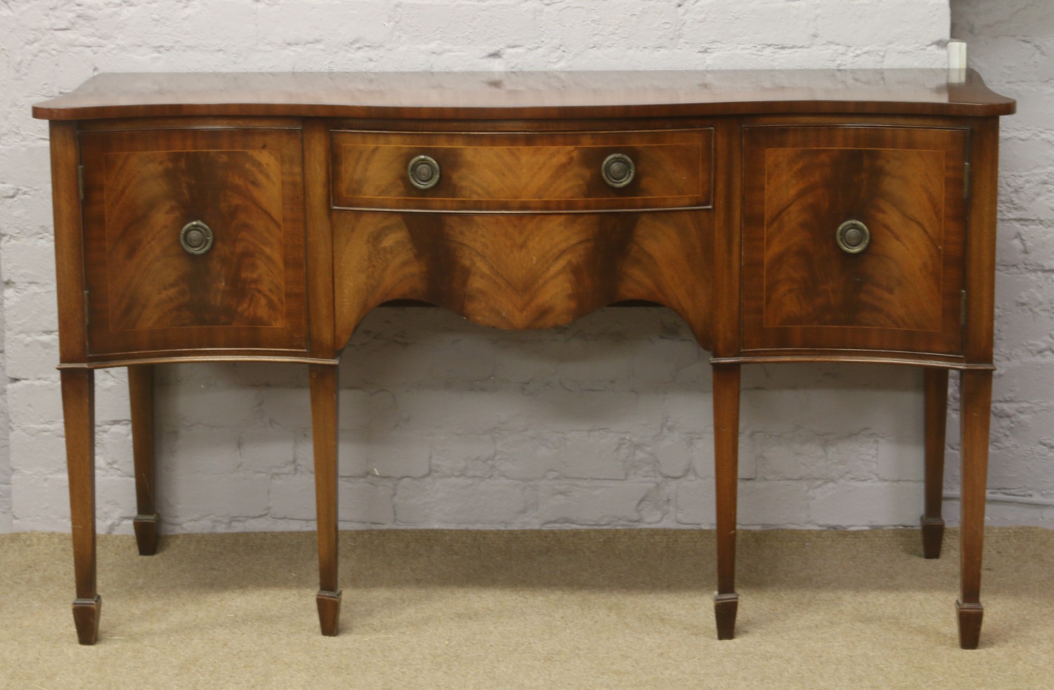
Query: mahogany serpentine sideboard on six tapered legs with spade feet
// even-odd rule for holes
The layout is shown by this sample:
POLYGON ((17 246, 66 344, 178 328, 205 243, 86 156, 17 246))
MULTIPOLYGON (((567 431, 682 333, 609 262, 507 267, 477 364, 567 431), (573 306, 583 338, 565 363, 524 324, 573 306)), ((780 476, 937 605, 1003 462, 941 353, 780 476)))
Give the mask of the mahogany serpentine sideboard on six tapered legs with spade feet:
MULTIPOLYGON (((81 644, 98 634, 93 372, 128 367, 139 552, 153 371, 310 369, 321 631, 338 628, 337 361, 395 299, 503 329, 665 305, 713 353, 718 636, 734 634, 740 366, 919 367, 923 554, 961 377, 959 642, 978 644, 999 116, 974 72, 101 75, 51 120, 81 644)), ((701 422, 702 423, 702 422, 701 422)))

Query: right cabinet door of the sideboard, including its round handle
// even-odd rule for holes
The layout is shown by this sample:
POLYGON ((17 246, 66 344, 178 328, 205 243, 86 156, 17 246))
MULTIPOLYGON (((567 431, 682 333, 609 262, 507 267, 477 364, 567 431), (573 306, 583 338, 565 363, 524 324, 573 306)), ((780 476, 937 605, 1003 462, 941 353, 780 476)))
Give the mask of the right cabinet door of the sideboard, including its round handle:
POLYGON ((968 142, 746 127, 743 349, 961 352, 968 142))

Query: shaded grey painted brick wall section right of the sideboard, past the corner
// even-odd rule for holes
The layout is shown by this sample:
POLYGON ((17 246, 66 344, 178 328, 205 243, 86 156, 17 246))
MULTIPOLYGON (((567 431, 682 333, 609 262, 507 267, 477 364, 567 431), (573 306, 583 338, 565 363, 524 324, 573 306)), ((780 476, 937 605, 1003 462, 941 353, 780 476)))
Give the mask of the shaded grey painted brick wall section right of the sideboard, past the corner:
MULTIPOLYGON (((968 42, 971 66, 1018 101, 1017 115, 1002 120, 999 152, 989 458, 989 495, 998 502, 989 514, 1054 527, 1054 7, 952 0, 951 9, 952 36, 968 42)), ((958 455, 949 461, 945 487, 955 493, 958 455)))

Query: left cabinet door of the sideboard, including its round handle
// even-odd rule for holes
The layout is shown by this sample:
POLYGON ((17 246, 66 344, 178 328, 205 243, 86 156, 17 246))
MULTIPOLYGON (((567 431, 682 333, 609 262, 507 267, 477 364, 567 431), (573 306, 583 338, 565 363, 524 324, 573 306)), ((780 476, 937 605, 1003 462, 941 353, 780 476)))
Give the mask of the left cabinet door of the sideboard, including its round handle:
POLYGON ((298 130, 89 132, 81 160, 91 355, 306 349, 298 130))

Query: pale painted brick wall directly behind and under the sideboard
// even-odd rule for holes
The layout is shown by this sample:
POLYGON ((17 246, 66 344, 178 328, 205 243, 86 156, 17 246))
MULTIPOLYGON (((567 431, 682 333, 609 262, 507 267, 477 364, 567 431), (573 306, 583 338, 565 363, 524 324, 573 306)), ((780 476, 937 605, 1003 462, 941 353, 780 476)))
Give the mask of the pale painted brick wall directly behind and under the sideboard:
MULTIPOLYGON (((960 4, 984 14, 981 2, 960 4)), ((949 12, 944 0, 0 2, 2 397, 9 414, 0 432, 9 431, 11 449, 0 456, 0 530, 69 529, 46 126, 30 119, 34 101, 114 71, 942 66, 949 12)), ((992 48, 993 72, 1003 66, 1000 50, 992 48)), ((1032 64, 1038 74, 1038 56, 1032 64)), ((1008 93, 1020 95, 1014 86, 1008 93)), ((1013 136, 1023 142, 1039 132, 1049 144, 1033 122, 1013 136)), ((1046 164, 1029 158, 1027 145, 1016 155, 1046 164)), ((1049 318, 1043 298, 1054 293, 1042 281, 1049 267, 1035 258, 1049 225, 1050 205, 1040 209, 1049 188, 1032 189, 1016 202, 1033 209, 1022 231, 1032 258, 1013 235, 1000 255, 1001 305, 1010 300, 1000 311, 1000 343, 1031 367, 1010 388, 1009 375, 1000 379, 993 484, 1006 491, 1019 488, 1015 481, 1030 490, 1054 481, 1041 454, 1017 453, 1054 436, 1050 409, 1038 402, 1049 388, 1037 383, 1039 343, 1050 331, 1037 321, 1041 313, 1049 318), (1032 269, 1014 268, 1030 260, 1032 269), (1023 272, 1031 282, 1007 287, 1023 272), (1004 320, 1010 313, 1018 316, 1004 320), (1031 440, 1015 435, 1022 425, 1031 440), (1008 470, 1014 481, 1002 481, 997 468, 1015 462, 1008 470)), ((1004 213, 1016 218, 1013 203, 1004 213)), ((440 310, 378 310, 353 338, 341 376, 346 527, 713 521, 709 366, 669 312, 609 309, 562 329, 507 333, 440 310)), ((891 368, 747 368, 742 523, 914 524, 920 379, 891 368)), ((104 371, 97 382, 99 529, 129 532, 125 378, 104 371)), ((313 528, 304 368, 170 367, 158 412, 167 531, 313 528)), ((0 433, 0 450, 2 442, 0 433)), ((992 510, 1020 521, 1046 519, 1045 511, 992 510)))

